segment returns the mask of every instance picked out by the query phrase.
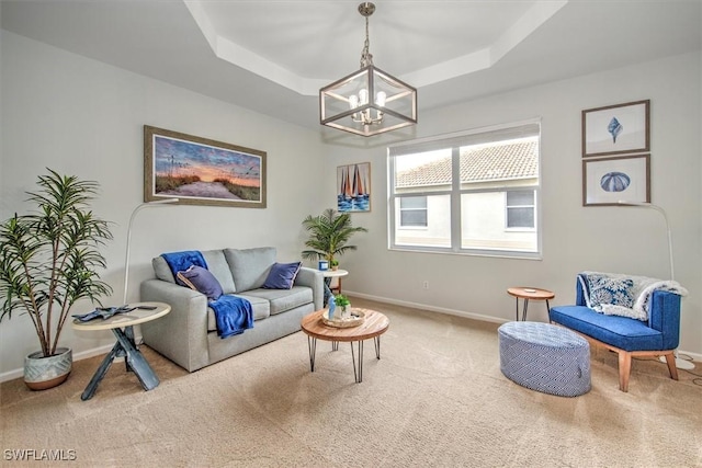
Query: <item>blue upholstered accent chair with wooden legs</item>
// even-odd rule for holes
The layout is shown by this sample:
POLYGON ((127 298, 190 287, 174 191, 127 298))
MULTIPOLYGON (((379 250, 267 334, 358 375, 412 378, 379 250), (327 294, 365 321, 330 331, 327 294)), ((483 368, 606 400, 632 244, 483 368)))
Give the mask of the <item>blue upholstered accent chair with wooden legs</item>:
POLYGON ((576 305, 556 306, 548 311, 552 323, 566 327, 590 342, 619 354, 619 389, 629 391, 634 356, 666 356, 670 377, 678 380, 673 351, 680 341, 680 296, 654 290, 648 321, 605 316, 586 306, 585 292, 576 281, 576 305))

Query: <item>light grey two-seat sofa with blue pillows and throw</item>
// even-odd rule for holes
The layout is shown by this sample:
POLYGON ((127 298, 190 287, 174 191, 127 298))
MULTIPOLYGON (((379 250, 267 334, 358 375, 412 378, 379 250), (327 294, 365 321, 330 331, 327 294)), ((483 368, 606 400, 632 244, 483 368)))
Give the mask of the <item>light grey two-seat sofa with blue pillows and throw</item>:
POLYGON ((276 261, 272 247, 202 251, 207 269, 222 285, 251 303, 253 328, 220 339, 205 295, 176 284, 166 260, 151 261, 156 278, 140 285, 140 300, 166 303, 170 313, 141 324, 144 343, 189 372, 269 343, 299 330, 302 318, 322 308, 321 272, 302 267, 291 289, 261 286, 276 261))

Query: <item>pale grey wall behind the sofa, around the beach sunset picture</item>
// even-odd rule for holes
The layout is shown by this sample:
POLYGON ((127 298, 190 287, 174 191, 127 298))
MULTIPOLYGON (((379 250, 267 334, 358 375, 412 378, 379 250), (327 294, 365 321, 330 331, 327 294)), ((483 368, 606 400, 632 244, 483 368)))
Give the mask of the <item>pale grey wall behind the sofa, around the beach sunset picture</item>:
MULTIPOLYGON (((0 218, 24 212, 24 192, 49 167, 101 184, 95 213, 114 221, 103 279, 122 301, 126 229, 143 202, 143 125, 148 124, 268 152, 268 208, 168 206, 139 212, 132 235, 128 299, 152 276, 150 259, 165 251, 275 246, 279 259, 299 258, 308 214, 325 204, 319 135, 302 127, 144 78, 2 31, 2 157, 0 218)), ((233 83, 236 85, 236 83, 233 83)), ((75 310, 87 312, 89 304, 75 310)), ((61 342, 81 353, 111 346, 110 332, 67 327, 61 342)), ((26 317, 0 324, 0 379, 16 369, 38 341, 26 317)), ((104 351, 104 350, 103 350, 104 351)))

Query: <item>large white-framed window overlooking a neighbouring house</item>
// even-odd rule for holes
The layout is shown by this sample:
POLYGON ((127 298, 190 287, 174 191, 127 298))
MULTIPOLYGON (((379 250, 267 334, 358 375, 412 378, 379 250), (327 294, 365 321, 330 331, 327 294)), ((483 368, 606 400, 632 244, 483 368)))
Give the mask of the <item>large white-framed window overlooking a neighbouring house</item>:
POLYGON ((389 247, 536 258, 540 124, 388 148, 389 247))

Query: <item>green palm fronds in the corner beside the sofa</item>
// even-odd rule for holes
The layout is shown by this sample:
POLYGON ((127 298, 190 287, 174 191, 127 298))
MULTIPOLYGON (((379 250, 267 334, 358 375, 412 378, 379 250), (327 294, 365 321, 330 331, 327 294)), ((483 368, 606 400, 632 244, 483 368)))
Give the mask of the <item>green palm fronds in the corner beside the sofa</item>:
POLYGON ((356 249, 355 246, 348 244, 351 236, 369 231, 363 227, 353 227, 349 213, 338 213, 333 208, 325 209, 319 216, 307 216, 303 220, 303 227, 309 232, 309 239, 305 242, 305 247, 309 249, 303 250, 303 259, 326 259, 329 265, 335 262, 336 255, 356 249))

